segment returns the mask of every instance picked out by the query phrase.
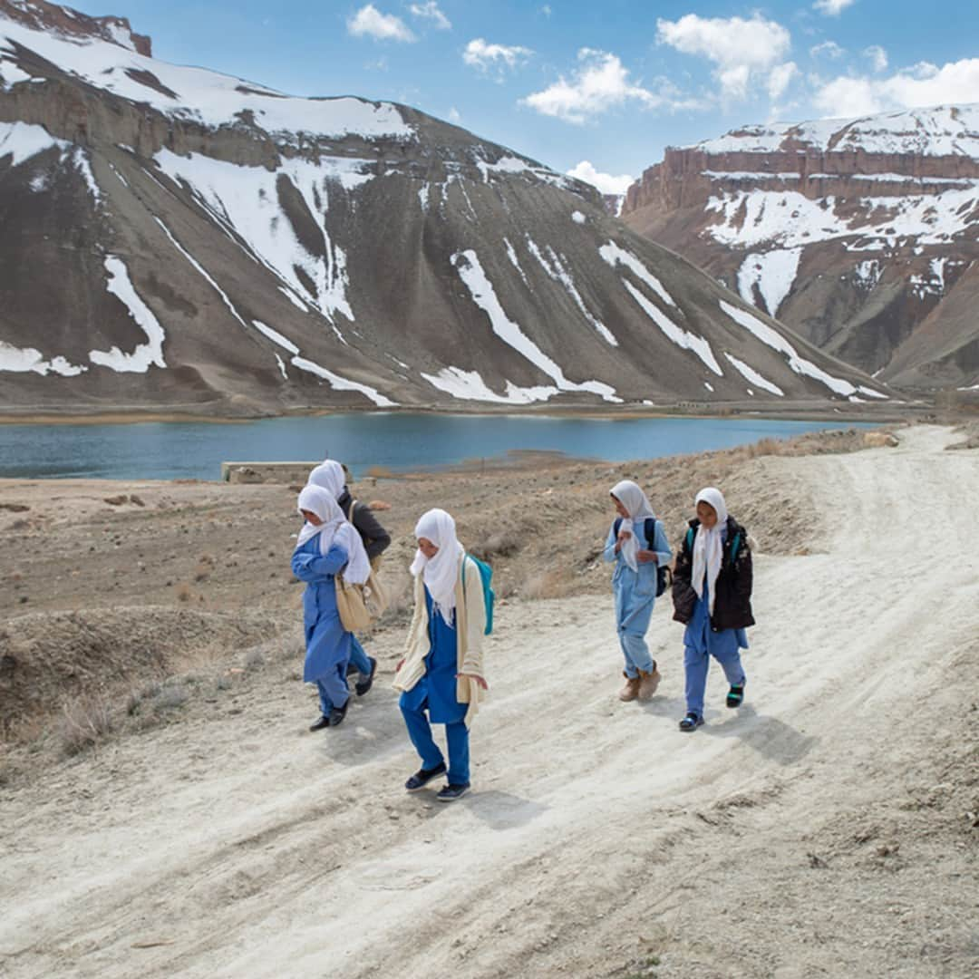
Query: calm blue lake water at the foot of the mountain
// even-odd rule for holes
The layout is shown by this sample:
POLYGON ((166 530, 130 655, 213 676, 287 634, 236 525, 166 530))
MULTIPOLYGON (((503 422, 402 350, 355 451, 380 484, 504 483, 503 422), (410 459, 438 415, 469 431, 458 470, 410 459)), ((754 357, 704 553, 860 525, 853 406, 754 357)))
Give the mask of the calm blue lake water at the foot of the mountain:
POLYGON ((556 449, 609 462, 700 452, 802 432, 825 422, 709 418, 547 418, 504 415, 339 414, 234 425, 0 425, 0 477, 220 479, 222 461, 346 462, 418 470, 509 449, 556 449))

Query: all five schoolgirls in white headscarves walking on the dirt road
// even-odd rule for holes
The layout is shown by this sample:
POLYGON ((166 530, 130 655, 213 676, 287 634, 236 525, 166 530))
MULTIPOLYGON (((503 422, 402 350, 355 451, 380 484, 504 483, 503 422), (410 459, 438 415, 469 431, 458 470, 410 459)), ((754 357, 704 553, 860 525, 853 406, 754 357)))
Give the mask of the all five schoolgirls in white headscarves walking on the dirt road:
MULTIPOLYGON (((615 563, 612 578, 616 627, 625 658, 624 701, 647 701, 660 673, 649 654, 645 634, 673 551, 646 494, 630 481, 611 490, 618 518, 606 540, 604 558, 615 563)), ((305 523, 292 557, 293 574, 306 583, 303 593, 305 664, 303 680, 319 691, 320 717, 311 730, 343 723, 350 706, 347 677, 356 673, 354 690, 371 687, 377 660, 368 656, 344 626, 336 582, 363 584, 372 562, 391 543, 370 507, 351 500, 343 466, 326 460, 313 469, 300 492, 305 523)), ((727 678, 728 707, 744 699, 745 675, 740 650, 748 648, 745 628, 751 613, 752 565, 747 534, 727 513, 719 489, 702 489, 696 517, 680 542, 673 569, 674 619, 683 623, 686 716, 679 728, 704 723, 704 692, 710 657, 727 678)), ((443 802, 460 798, 470 786, 469 726, 487 681, 483 636, 487 602, 480 569, 459 542, 455 521, 444 510, 426 512, 415 526, 417 550, 411 563, 414 613, 404 655, 397 664, 398 706, 421 768, 404 784, 409 792, 445 776, 438 793, 443 802), (448 762, 432 734, 432 723, 445 725, 448 762)))

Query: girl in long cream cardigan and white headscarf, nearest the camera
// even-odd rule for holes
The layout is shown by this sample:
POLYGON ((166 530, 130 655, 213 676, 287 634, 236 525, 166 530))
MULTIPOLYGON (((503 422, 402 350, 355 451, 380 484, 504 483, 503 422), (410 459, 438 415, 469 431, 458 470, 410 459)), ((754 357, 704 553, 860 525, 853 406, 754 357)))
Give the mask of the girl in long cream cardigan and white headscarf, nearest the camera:
POLYGON ((418 550, 411 563, 415 612, 395 688, 408 736, 422 767, 405 783, 409 792, 445 774, 438 794, 451 802, 469 788, 469 725, 487 689, 483 634, 487 608, 483 579, 455 536, 444 510, 429 510, 415 527, 418 550), (432 736, 432 723, 445 725, 448 767, 432 736))

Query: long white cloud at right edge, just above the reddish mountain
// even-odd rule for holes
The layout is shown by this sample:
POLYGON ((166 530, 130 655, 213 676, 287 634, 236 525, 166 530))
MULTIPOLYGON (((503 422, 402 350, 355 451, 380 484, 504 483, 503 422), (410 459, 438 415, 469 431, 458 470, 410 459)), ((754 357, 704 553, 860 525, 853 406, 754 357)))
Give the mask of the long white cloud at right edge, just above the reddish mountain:
POLYGON ((888 78, 840 76, 822 85, 814 101, 829 117, 979 102, 979 58, 963 58, 942 68, 921 62, 888 78))

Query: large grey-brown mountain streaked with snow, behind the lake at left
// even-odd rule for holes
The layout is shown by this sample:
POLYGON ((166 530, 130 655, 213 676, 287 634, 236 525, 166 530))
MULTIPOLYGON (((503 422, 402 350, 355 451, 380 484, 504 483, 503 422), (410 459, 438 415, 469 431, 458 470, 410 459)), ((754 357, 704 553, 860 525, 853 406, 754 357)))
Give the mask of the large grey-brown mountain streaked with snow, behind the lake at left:
POLYGON ((219 413, 886 391, 593 188, 404 106, 0 0, 7 407, 219 413))

